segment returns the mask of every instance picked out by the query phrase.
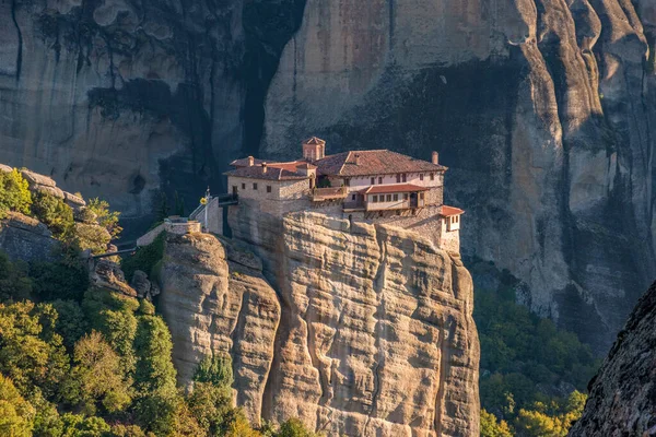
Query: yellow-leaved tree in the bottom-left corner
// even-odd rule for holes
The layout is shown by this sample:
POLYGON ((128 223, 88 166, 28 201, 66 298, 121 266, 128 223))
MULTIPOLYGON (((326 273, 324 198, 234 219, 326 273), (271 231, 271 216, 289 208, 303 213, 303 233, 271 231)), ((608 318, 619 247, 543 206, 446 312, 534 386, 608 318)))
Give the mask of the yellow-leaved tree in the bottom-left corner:
POLYGON ((0 435, 11 437, 32 436, 35 410, 11 379, 0 374, 0 435))

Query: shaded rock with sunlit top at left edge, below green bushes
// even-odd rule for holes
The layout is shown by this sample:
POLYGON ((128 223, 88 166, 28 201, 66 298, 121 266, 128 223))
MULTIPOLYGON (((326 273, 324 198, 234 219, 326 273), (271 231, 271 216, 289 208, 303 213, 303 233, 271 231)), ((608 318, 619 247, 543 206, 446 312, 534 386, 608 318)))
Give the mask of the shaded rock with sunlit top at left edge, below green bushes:
POLYGON ((59 241, 47 226, 36 218, 8 212, 0 218, 0 250, 14 260, 25 262, 55 261, 59 241))

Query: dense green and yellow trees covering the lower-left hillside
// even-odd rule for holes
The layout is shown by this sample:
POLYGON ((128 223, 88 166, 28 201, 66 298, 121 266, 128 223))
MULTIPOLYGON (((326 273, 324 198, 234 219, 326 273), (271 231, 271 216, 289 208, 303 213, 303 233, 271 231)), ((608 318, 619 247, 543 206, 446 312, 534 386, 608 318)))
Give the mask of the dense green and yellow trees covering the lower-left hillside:
POLYGON ((0 252, 0 435, 314 436, 296 420, 254 428, 233 404, 229 356, 202 361, 184 393, 152 304, 90 287, 67 262, 0 252))

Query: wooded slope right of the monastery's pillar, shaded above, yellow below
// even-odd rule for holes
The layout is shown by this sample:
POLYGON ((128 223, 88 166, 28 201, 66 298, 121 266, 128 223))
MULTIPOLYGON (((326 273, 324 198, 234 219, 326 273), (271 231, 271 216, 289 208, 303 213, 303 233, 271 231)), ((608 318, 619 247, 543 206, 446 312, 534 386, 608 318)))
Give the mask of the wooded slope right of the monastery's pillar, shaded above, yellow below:
POLYGON ((481 436, 565 436, 600 362, 575 334, 517 305, 517 280, 507 271, 495 275, 495 290, 478 286, 475 293, 481 436))

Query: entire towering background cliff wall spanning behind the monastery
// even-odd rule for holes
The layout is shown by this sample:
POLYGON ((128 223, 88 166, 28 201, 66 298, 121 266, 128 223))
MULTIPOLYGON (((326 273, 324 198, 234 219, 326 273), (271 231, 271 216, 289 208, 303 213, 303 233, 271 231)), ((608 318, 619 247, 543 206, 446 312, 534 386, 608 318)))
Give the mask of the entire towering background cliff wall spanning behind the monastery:
POLYGON ((0 161, 124 218, 318 134, 440 150, 465 252, 598 351, 656 273, 649 0, 16 0, 0 23, 0 161))

